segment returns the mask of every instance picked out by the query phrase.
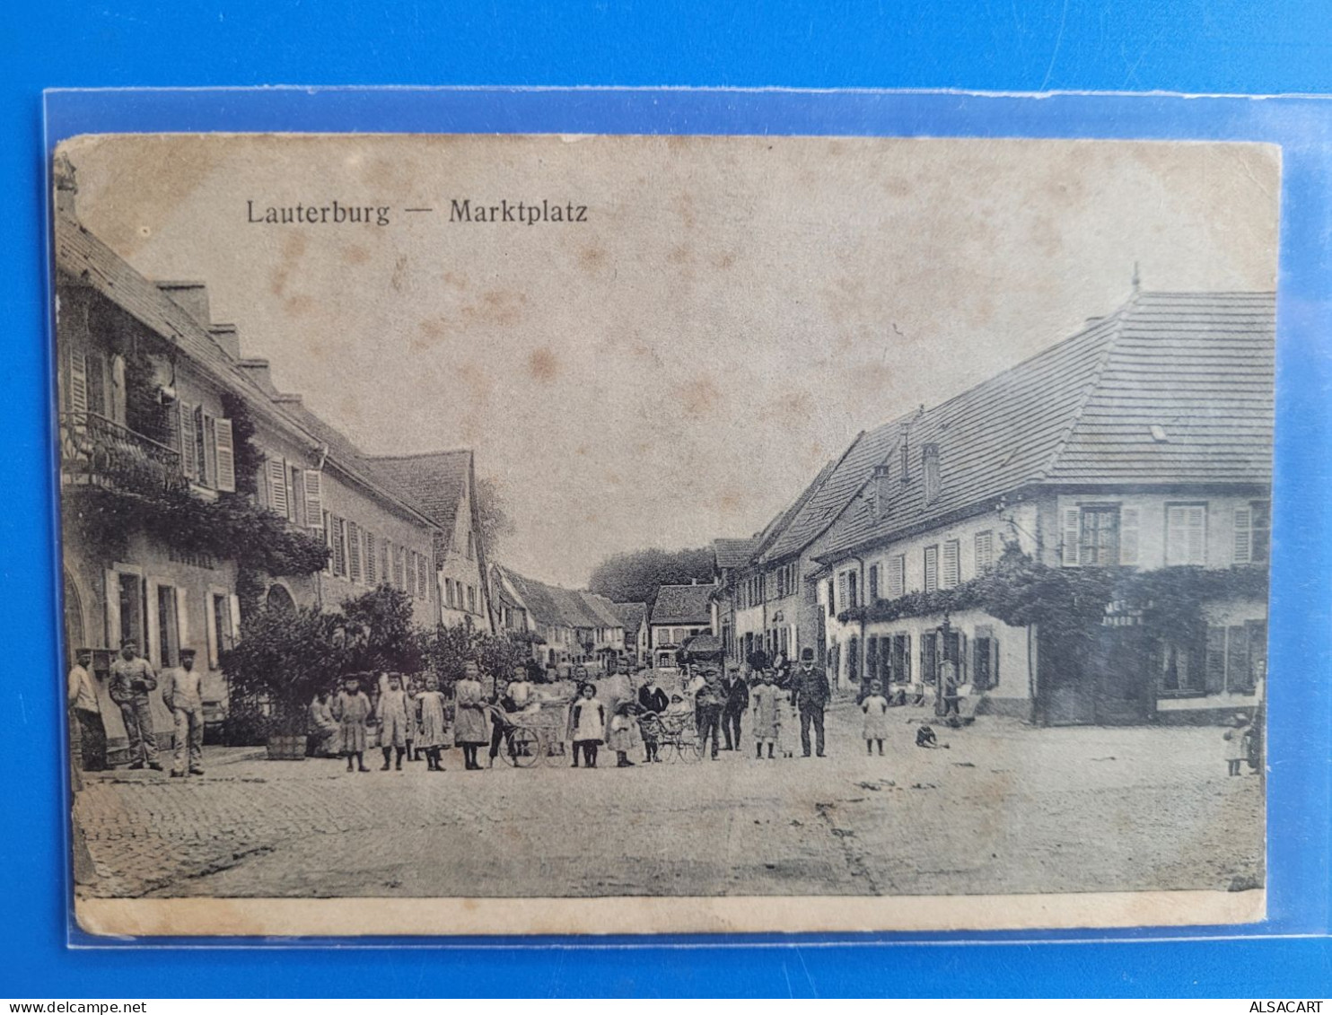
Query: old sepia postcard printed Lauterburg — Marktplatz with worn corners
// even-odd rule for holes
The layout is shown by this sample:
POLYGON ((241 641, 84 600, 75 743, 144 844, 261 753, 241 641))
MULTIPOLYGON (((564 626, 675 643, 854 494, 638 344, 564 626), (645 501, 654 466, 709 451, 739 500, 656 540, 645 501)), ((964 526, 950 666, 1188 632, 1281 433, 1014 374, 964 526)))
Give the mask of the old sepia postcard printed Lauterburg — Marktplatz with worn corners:
POLYGON ((1261 920, 1280 170, 63 143, 79 924, 1261 920))

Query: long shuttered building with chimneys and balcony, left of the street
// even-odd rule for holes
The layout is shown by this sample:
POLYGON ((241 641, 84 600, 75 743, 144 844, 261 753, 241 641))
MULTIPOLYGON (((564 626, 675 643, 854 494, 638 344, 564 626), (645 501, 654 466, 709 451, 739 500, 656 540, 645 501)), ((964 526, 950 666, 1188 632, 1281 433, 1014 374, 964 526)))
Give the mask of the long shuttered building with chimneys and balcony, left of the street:
MULTIPOLYGON (((151 280, 84 228, 67 160, 57 159, 55 178, 69 647, 95 649, 105 661, 133 639, 155 667, 174 666, 182 649, 194 649, 205 710, 220 718, 226 710, 220 655, 245 610, 336 607, 388 583, 408 594, 418 625, 433 627, 441 617, 437 550, 446 533, 429 506, 298 394, 280 392, 268 362, 242 354, 236 328, 212 321, 202 282, 151 280), (151 530, 105 541, 77 523, 99 500, 181 496, 201 505, 241 497, 281 518, 292 545, 309 550, 306 559, 322 543, 328 563, 313 573, 241 574, 230 546, 202 551, 178 537, 166 545, 151 530)), ((201 508, 200 518, 206 515, 201 508)), ((485 599, 480 603, 484 621, 485 599)), ((165 738, 172 721, 159 713, 165 738)), ((112 750, 120 750, 119 709, 107 702, 103 714, 112 750)))

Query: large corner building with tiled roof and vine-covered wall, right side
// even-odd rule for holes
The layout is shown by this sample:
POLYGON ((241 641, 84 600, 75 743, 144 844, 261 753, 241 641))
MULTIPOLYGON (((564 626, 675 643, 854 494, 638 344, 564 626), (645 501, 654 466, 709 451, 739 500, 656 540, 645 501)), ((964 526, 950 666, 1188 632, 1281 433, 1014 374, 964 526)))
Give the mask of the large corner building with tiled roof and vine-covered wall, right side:
POLYGON ((1271 293, 1135 293, 1038 356, 890 424, 807 550, 803 623, 830 673, 843 686, 867 674, 920 686, 950 663, 987 707, 1052 723, 1255 707, 1267 607, 1252 574, 1265 581, 1273 353, 1271 293), (1102 649, 1080 654, 1036 651, 1039 625, 1010 627, 978 609, 911 614, 910 595, 966 586, 1006 551, 1051 569, 1219 571, 1233 575, 1233 591, 1203 603, 1201 626, 1151 643, 1127 646, 1140 623, 1132 611, 1111 618, 1102 649))

